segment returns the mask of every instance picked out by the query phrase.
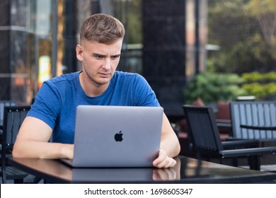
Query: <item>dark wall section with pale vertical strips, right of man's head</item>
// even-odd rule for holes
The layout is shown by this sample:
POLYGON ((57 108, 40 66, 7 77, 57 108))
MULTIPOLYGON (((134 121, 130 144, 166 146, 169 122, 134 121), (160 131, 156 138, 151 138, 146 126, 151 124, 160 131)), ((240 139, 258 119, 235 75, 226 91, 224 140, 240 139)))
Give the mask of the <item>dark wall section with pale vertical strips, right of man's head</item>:
POLYGON ((143 1, 143 75, 171 115, 182 114, 183 88, 205 69, 207 1, 143 1))

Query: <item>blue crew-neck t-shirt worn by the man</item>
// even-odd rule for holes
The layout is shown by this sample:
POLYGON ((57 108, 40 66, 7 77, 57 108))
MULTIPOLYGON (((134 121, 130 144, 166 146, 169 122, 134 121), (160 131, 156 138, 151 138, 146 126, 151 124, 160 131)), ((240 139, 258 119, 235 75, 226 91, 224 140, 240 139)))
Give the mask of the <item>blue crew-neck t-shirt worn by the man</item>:
POLYGON ((80 72, 45 81, 28 112, 28 116, 37 117, 53 129, 54 142, 74 143, 78 105, 160 106, 149 83, 139 74, 115 71, 108 89, 89 97, 81 88, 80 72))

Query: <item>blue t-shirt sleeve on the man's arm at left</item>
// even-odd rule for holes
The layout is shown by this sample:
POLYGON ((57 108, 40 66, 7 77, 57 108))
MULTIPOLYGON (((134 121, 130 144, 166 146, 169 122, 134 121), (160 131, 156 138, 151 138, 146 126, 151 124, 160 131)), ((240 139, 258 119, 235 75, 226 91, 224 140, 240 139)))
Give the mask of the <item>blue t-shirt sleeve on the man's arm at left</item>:
POLYGON ((43 83, 35 97, 28 116, 36 117, 46 122, 52 129, 57 122, 57 115, 61 107, 59 93, 49 83, 43 83))

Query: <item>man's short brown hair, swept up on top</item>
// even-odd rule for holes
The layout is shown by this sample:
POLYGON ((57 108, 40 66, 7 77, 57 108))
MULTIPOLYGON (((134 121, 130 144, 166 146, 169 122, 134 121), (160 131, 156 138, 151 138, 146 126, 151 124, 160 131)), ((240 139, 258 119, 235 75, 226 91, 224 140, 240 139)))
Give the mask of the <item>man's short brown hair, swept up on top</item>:
POLYGON ((100 43, 113 43, 122 39, 125 28, 117 18, 105 13, 89 16, 81 25, 80 39, 100 43))

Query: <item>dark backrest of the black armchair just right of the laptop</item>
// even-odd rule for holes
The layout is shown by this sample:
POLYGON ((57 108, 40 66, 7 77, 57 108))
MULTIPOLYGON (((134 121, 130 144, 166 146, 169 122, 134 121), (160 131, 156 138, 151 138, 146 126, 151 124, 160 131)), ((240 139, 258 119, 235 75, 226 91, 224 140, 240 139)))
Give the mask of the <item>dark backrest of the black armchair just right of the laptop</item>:
POLYGON ((219 155, 219 151, 223 150, 222 141, 212 108, 183 105, 183 110, 195 149, 201 154, 217 153, 219 155))

